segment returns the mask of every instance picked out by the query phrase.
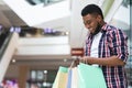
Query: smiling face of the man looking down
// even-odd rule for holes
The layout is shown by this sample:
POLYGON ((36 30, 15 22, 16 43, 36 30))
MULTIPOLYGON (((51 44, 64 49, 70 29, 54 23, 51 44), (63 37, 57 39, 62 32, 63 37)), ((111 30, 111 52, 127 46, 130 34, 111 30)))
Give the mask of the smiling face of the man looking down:
POLYGON ((87 14, 82 16, 85 26, 90 31, 90 33, 95 33, 98 25, 100 24, 99 15, 87 14))

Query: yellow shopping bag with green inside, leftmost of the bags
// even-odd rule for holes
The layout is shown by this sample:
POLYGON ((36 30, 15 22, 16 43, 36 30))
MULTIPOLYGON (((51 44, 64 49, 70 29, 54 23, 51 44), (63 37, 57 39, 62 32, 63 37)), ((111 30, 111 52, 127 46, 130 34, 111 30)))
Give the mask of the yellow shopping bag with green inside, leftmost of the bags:
POLYGON ((68 76, 68 68, 59 66, 52 88, 66 88, 67 87, 67 76, 68 76))

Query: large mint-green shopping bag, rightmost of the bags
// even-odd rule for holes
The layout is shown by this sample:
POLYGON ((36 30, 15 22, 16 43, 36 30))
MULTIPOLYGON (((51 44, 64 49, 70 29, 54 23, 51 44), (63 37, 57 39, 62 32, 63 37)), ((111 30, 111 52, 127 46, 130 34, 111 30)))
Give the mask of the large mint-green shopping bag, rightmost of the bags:
POLYGON ((77 69, 79 88, 107 88, 101 68, 80 63, 77 69))

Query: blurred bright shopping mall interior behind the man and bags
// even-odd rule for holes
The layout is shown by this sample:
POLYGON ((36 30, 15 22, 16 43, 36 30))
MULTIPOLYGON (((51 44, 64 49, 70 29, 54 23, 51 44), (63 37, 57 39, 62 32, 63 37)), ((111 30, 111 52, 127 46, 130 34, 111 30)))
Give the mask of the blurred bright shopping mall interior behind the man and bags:
POLYGON ((129 37, 132 88, 131 0, 0 0, 0 88, 52 88, 59 66, 82 55, 87 30, 80 12, 90 3, 129 37))

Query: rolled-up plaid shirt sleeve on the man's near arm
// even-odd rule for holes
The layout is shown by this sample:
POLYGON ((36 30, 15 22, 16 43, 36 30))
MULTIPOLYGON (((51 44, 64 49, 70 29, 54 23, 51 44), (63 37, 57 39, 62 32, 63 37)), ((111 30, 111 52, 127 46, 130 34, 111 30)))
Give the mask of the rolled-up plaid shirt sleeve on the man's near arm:
POLYGON ((113 55, 118 55, 120 59, 127 62, 129 55, 128 36, 121 30, 112 30, 109 40, 113 55))

